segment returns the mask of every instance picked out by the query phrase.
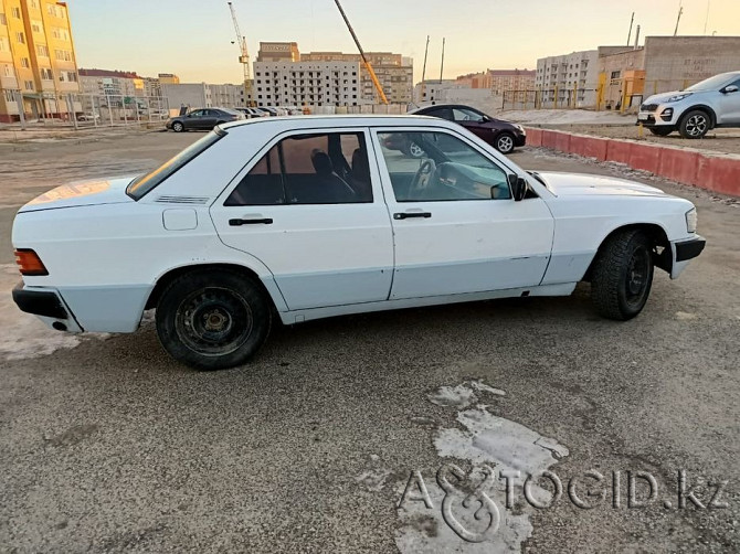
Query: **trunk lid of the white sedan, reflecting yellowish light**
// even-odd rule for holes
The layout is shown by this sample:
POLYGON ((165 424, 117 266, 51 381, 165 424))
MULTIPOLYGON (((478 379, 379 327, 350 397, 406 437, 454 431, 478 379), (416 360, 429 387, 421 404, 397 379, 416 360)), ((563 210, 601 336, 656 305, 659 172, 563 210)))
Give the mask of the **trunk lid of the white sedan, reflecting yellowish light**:
POLYGON ((102 181, 63 184, 44 192, 41 196, 36 196, 21 207, 19 213, 134 202, 134 199, 126 194, 126 188, 135 178, 136 175, 129 175, 102 181))

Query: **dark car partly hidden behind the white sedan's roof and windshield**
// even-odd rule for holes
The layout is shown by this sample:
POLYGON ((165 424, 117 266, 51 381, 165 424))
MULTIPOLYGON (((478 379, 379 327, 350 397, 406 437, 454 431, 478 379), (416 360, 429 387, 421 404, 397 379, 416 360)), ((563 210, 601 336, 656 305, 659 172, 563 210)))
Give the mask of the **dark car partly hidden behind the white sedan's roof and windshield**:
MULTIPOLYGON (((419 116, 432 116, 455 121, 493 146, 501 153, 511 153, 516 147, 525 146, 527 132, 517 124, 495 119, 471 106, 461 104, 436 104, 409 111, 419 116)), ((414 156, 414 152, 409 152, 414 156)))

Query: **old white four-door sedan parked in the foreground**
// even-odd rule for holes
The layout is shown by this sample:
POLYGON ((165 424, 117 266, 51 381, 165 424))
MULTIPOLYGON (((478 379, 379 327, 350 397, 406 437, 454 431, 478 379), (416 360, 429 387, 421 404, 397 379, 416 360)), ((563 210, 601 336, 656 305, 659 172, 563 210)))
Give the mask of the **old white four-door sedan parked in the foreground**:
POLYGON ((626 320, 654 267, 675 279, 699 255, 696 225, 687 200, 527 172, 443 119, 263 118, 219 126, 149 173, 24 205, 13 298, 71 332, 133 332, 156 308, 165 349, 215 370, 247 361, 273 315, 567 296, 588 280, 598 311, 626 320), (388 135, 424 157, 387 149, 388 135))

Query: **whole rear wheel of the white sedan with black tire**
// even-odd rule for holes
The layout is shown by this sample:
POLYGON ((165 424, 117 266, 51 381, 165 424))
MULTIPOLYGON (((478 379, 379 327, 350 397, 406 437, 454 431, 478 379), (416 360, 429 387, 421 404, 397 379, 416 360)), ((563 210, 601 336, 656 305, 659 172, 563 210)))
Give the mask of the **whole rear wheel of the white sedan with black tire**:
POLYGON ((157 334, 176 360, 198 370, 241 365, 269 334, 272 311, 262 288, 229 269, 177 277, 157 305, 157 334))

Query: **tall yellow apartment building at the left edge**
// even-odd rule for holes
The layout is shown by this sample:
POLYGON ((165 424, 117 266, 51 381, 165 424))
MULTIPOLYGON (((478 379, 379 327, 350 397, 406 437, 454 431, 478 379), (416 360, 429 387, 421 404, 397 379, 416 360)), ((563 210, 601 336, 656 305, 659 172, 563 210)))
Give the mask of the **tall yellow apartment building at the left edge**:
POLYGON ((78 92, 66 2, 0 0, 0 121, 65 117, 78 92))

